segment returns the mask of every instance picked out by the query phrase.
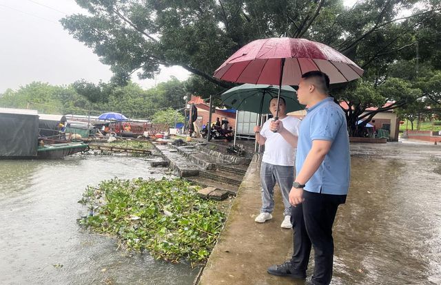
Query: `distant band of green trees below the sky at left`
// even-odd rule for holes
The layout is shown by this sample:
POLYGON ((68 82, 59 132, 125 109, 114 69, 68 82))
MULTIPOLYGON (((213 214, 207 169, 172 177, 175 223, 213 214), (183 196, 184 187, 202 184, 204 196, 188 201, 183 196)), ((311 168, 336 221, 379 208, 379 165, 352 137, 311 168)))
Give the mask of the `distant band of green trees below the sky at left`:
MULTIPOLYGON (((132 82, 118 86, 76 81, 68 87, 34 82, 0 94, 0 107, 37 109, 44 114, 99 116, 104 112, 119 112, 129 118, 147 119, 158 109, 184 107, 185 94, 185 83, 176 78, 147 90, 132 82)), ((183 122, 181 117, 178 114, 178 122, 183 122)))

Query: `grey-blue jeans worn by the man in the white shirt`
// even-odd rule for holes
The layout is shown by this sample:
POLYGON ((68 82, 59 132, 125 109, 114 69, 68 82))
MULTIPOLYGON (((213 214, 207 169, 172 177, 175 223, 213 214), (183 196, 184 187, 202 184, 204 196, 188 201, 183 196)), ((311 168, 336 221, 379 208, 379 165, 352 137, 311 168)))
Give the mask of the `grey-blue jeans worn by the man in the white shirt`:
POLYGON ((294 166, 271 165, 262 162, 260 166, 260 184, 262 185, 262 209, 260 213, 272 213, 274 210, 274 186, 280 187, 285 211, 283 215, 291 215, 289 191, 294 182, 294 166))

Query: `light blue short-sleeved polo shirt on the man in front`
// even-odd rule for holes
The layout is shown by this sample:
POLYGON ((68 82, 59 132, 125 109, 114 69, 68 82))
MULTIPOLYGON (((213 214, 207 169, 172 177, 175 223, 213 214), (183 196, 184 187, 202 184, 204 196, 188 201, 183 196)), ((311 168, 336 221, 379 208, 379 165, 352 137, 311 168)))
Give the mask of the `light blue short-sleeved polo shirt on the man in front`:
POLYGON ((307 109, 300 124, 296 173, 303 167, 313 140, 330 140, 331 149, 320 167, 306 183, 305 190, 315 193, 346 195, 351 176, 351 156, 346 116, 334 98, 325 98, 307 109))

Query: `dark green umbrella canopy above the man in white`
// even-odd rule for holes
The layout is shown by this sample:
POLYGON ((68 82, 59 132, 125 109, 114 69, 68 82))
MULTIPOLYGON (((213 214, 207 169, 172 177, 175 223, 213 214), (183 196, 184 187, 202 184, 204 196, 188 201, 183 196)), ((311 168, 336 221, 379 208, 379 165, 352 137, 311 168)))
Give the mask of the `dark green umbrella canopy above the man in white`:
MULTIPOLYGON (((243 84, 227 90, 221 96, 223 104, 241 111, 261 114, 269 107, 269 101, 278 96, 277 85, 243 84)), ((287 112, 305 109, 297 101, 296 90, 289 86, 282 86, 280 97, 285 99, 287 112)))

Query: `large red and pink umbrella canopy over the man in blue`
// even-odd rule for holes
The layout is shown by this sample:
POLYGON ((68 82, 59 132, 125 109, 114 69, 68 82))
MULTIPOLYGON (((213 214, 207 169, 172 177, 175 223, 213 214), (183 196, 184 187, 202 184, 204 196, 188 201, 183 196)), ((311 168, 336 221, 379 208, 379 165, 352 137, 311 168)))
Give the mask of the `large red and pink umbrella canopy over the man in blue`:
POLYGON ((298 85, 302 74, 313 70, 325 72, 330 83, 352 81, 363 74, 356 63, 323 43, 270 38, 240 48, 214 77, 237 83, 298 85))

